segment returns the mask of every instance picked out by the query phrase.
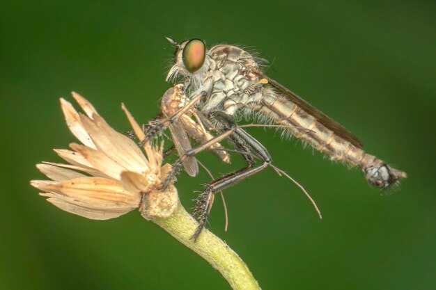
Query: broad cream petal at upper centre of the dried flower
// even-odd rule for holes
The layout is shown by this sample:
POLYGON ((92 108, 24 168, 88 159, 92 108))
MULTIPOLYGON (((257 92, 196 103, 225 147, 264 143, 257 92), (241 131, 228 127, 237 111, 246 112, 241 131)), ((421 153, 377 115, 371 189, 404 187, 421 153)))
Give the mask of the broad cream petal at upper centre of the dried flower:
POLYGON ((93 118, 94 120, 91 120, 81 115, 81 121, 99 151, 129 171, 148 170, 148 161, 133 140, 112 129, 99 115, 93 118))

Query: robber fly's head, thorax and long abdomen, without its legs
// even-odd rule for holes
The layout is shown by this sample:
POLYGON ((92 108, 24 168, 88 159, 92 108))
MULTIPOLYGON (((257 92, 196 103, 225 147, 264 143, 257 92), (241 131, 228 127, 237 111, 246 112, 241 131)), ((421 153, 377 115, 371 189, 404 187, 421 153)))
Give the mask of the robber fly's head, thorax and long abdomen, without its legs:
POLYGON ((185 84, 190 106, 206 116, 217 112, 231 118, 261 115, 264 120, 286 127, 296 138, 330 159, 359 166, 373 186, 389 188, 406 173, 364 152, 360 141, 317 108, 270 79, 249 52, 232 45, 206 49, 199 39, 178 43, 174 64, 166 77, 185 84), (193 96, 199 96, 192 98, 193 96))

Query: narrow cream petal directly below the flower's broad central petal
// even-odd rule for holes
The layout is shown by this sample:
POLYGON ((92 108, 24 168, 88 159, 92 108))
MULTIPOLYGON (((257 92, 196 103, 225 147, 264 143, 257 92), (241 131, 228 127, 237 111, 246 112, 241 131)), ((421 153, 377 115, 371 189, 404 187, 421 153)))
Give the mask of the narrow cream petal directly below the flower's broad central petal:
POLYGON ((120 179, 120 174, 123 171, 127 171, 127 168, 121 166, 119 163, 116 163, 114 159, 111 159, 104 152, 100 152, 98 150, 93 150, 90 147, 86 147, 83 145, 72 143, 70 144, 72 150, 79 152, 86 161, 91 163, 92 168, 97 169, 100 172, 104 172, 105 175, 114 178, 120 179))

